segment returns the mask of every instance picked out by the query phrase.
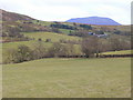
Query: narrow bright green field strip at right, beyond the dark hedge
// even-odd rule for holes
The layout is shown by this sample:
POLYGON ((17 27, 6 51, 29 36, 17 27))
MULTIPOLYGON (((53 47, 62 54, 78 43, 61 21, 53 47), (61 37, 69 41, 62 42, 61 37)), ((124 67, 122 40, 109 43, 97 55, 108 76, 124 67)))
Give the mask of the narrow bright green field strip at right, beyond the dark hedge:
POLYGON ((133 50, 121 50, 121 51, 112 51, 112 52, 104 52, 102 54, 131 54, 133 50))

